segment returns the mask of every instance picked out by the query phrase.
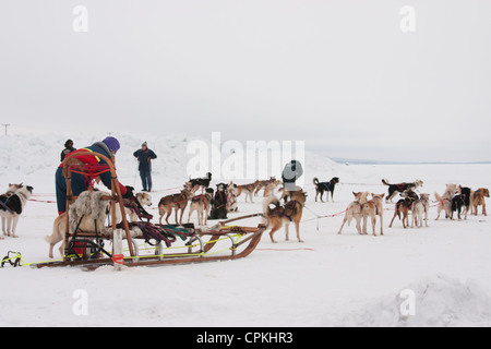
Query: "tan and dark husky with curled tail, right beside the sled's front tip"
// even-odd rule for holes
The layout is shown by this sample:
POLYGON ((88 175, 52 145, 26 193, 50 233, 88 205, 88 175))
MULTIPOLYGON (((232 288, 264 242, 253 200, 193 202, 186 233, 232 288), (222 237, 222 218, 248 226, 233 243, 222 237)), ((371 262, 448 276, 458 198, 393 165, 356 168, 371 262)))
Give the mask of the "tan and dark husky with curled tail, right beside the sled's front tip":
POLYGON ((279 200, 275 196, 270 196, 263 202, 263 213, 270 219, 270 238, 273 243, 275 239, 273 234, 285 226, 286 241, 288 241, 288 226, 290 222, 295 224, 297 230, 298 242, 303 242, 300 239, 300 220, 302 219, 303 205, 306 204, 307 193, 303 190, 296 191, 291 194, 291 201, 287 202, 284 206, 279 205, 279 200), (274 204, 275 207, 271 208, 270 205, 274 204))

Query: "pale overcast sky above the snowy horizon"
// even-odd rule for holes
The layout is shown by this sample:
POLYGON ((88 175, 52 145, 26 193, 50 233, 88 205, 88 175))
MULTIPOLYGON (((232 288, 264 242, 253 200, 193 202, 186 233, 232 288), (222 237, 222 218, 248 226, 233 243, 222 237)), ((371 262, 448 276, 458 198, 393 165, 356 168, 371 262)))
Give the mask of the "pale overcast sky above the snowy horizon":
POLYGON ((491 160, 490 13, 486 0, 1 0, 0 121, 491 160))

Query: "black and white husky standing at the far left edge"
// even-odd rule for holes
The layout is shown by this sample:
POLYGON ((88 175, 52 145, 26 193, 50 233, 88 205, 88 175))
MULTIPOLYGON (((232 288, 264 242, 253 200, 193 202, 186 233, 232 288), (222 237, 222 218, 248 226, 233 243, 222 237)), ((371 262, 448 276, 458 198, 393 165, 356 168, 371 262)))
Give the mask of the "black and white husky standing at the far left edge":
POLYGON ((0 217, 2 217, 2 231, 4 236, 19 238, 15 234, 15 228, 17 226, 19 217, 21 217, 25 204, 32 194, 33 186, 27 185, 17 189, 15 193, 10 196, 0 195, 0 217))

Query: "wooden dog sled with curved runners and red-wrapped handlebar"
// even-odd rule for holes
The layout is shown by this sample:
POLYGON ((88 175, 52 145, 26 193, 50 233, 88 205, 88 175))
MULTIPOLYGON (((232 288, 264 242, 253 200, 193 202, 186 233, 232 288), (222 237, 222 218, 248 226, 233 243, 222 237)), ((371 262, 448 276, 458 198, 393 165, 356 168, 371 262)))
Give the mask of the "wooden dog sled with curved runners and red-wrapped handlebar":
MULTIPOLYGON (((246 257, 254 251, 267 227, 267 224, 263 224, 267 221, 267 217, 263 214, 219 221, 211 228, 194 227, 193 224, 154 225, 149 222, 152 216, 145 212, 143 212, 143 216, 139 216, 146 218, 147 221, 142 219, 137 222, 129 222, 113 160, 94 152, 77 153, 77 155, 97 156, 107 165, 94 168, 94 165, 82 164, 70 155, 63 160, 63 174, 67 180, 63 260, 34 263, 31 265, 32 267, 81 266, 85 269, 95 269, 103 265, 115 265, 119 268, 121 265, 158 266, 237 260, 246 257), (94 229, 81 230, 82 220, 87 218, 87 213, 76 217, 76 225, 73 225, 73 217, 70 215, 74 215, 75 210, 70 208, 76 204, 77 196, 74 196, 72 192, 72 172, 82 173, 87 180, 94 182, 95 177, 105 171, 109 171, 111 174, 111 193, 99 193, 98 200, 107 202, 110 225, 101 228, 97 219, 91 217, 94 219, 91 225, 94 229), (246 219, 260 219, 260 222, 255 227, 231 225, 246 219), (120 222, 117 224, 117 220, 120 222), (142 240, 145 241, 143 249, 140 244, 142 240), (123 249, 123 244, 127 245, 125 249, 123 249), (141 253, 148 250, 151 250, 149 254, 141 253)), ((92 184, 88 192, 93 191, 92 184)), ((80 197, 85 193, 83 192, 80 197)))

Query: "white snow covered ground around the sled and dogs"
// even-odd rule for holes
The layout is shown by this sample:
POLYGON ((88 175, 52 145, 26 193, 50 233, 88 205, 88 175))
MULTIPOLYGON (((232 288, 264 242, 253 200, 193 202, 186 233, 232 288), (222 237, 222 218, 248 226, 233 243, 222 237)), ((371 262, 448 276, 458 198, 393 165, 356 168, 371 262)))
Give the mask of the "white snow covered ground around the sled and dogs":
MULTIPOLYGON (((75 147, 81 147, 101 136, 73 139, 75 147)), ((53 172, 65 137, 61 133, 1 137, 0 190, 23 181, 35 188, 33 198, 53 201, 53 172)), ((120 181, 140 189, 131 153, 144 140, 119 137, 123 144, 117 157, 120 181)), ((154 163, 156 205, 172 192, 167 189, 185 180, 189 140, 146 141, 159 156, 154 163)), ((308 155, 304 167, 309 197, 301 236, 306 242, 286 242, 279 231, 278 243, 264 234, 256 251, 242 260, 122 272, 5 267, 0 269, 3 285, 9 285, 0 298, 0 326, 491 325, 488 217, 435 221, 432 207, 428 228, 403 229, 399 220, 388 228, 393 205, 385 205, 384 237, 358 236, 352 225, 337 234, 343 215, 315 219, 315 215, 343 212, 352 191, 386 192, 382 178, 391 182, 422 179, 420 192, 432 197, 450 182, 489 188, 490 165, 345 166, 308 155), (340 178, 334 203, 314 202, 313 176, 340 178), (88 297, 87 315, 73 311, 77 290, 88 297), (415 296, 415 315, 400 312, 408 301, 400 297, 403 290, 415 296)), ((261 198, 251 204, 241 196, 239 209, 229 217, 260 212, 261 198)), ((48 260, 44 237, 50 233, 56 215, 55 204, 29 202, 17 226, 20 238, 0 240, 0 253, 20 251, 25 263, 48 260)))

